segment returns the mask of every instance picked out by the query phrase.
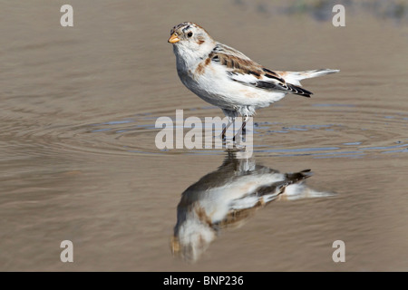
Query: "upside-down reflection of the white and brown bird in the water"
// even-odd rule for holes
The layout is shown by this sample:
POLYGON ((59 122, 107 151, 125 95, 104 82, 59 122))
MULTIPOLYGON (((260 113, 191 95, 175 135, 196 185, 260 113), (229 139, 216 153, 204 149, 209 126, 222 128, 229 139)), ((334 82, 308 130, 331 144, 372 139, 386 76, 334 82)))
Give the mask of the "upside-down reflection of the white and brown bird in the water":
POLYGON ((233 152, 219 169, 186 189, 177 207, 171 247, 173 254, 196 261, 222 227, 240 226, 258 208, 272 200, 326 197, 330 193, 309 189, 304 179, 310 169, 279 173, 257 165, 253 159, 238 160, 233 152))

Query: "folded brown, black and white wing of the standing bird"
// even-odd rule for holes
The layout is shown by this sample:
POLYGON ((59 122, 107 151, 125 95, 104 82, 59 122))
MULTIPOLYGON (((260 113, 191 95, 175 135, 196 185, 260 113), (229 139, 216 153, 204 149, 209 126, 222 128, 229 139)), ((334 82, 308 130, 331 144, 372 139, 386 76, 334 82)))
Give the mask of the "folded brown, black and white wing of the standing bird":
POLYGON ((255 63, 244 53, 227 45, 218 43, 209 53, 209 59, 212 63, 220 65, 232 81, 267 91, 292 92, 305 97, 310 97, 312 94, 312 92, 286 82, 279 73, 255 63))

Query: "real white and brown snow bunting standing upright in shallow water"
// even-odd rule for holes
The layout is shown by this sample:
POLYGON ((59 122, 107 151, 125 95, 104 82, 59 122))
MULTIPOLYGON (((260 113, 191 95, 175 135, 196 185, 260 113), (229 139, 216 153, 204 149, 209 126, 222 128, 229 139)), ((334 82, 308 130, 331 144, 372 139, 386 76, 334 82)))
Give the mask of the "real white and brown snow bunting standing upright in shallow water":
MULTIPOLYGON (((218 106, 233 122, 238 113, 248 117, 259 108, 281 100, 287 93, 310 97, 299 81, 339 70, 272 71, 244 53, 218 43, 198 24, 185 22, 170 31, 181 82, 202 100, 218 106)), ((225 130, 223 131, 223 135, 225 130)))

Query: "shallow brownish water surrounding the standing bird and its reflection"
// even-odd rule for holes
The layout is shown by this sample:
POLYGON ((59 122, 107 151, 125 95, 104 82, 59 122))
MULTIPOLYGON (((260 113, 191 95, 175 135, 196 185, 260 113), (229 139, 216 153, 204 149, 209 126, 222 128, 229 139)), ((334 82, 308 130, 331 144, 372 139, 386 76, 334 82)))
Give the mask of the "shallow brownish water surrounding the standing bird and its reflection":
POLYGON ((63 3, 2 2, 0 270, 408 270, 406 22, 346 7, 335 28, 256 3, 71 1, 63 28, 63 3), (341 70, 257 111, 252 160, 312 169, 307 186, 335 195, 257 208, 193 264, 171 252, 181 193, 228 152, 155 146, 160 116, 222 117, 178 79, 167 39, 186 20, 271 69, 341 70))

